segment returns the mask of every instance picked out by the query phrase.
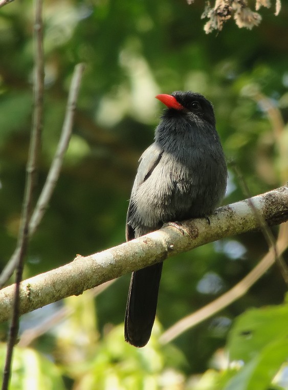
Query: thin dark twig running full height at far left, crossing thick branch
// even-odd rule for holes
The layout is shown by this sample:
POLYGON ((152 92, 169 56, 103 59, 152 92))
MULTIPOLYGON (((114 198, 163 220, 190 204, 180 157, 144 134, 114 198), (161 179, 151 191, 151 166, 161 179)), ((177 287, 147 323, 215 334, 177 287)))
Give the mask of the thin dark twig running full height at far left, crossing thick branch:
POLYGON ((34 74, 34 115, 31 129, 31 141, 29 147, 28 162, 26 168, 26 184, 19 229, 17 250, 19 256, 16 263, 15 295, 12 311, 12 319, 7 341, 7 353, 3 373, 2 390, 9 387, 11 363, 14 344, 17 339, 19 328, 19 290, 22 280, 24 258, 29 238, 29 220, 33 201, 33 191, 36 179, 36 167, 39 154, 42 119, 43 119, 43 91, 44 91, 44 65, 43 65, 43 32, 42 32, 42 0, 36 0, 35 25, 34 25, 35 49, 35 74, 34 74))

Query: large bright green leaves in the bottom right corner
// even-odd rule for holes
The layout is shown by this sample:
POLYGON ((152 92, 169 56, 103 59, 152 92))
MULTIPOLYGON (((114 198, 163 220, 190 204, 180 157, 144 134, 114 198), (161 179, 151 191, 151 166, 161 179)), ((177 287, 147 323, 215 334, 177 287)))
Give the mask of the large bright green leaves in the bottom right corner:
POLYGON ((281 364, 288 359, 287 323, 287 302, 250 309, 237 318, 229 334, 229 358, 247 364, 225 390, 269 387, 281 364))

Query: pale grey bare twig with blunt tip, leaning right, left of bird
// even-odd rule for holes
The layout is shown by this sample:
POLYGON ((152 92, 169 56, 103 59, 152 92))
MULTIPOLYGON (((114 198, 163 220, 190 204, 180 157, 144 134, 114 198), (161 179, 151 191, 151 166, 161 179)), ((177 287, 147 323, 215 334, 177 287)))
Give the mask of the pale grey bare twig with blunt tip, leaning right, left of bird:
MULTIPOLYGON (((31 237, 35 233, 39 223, 41 222, 41 219, 47 209, 48 203, 51 199, 53 190, 55 188, 55 185, 57 183, 60 174, 65 151, 67 150, 69 140, 71 137, 76 101, 79 93, 83 70, 84 70, 84 64, 81 63, 76 65, 74 69, 70 90, 69 90, 69 97, 68 97, 68 102, 66 107, 65 118, 62 126, 62 131, 61 131, 61 136, 58 142, 54 159, 52 161, 47 176, 46 183, 43 186, 38 202, 31 216, 31 220, 29 223, 29 237, 31 237)), ((19 258, 19 249, 16 248, 15 252, 11 256, 8 264, 6 265, 6 267, 4 268, 0 276, 0 288, 4 286, 6 281, 10 278, 10 276, 14 272, 18 258, 19 258)))

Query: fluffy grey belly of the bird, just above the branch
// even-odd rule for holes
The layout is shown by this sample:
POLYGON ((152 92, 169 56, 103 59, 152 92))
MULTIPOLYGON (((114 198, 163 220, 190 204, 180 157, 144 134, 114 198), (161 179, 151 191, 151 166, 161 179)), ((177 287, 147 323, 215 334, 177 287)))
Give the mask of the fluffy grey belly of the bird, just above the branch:
MULTIPOLYGON (((207 161, 207 159, 206 159, 207 161)), ((210 214, 223 196, 219 177, 207 164, 158 165, 135 194, 135 227, 159 228, 164 222, 210 214)))

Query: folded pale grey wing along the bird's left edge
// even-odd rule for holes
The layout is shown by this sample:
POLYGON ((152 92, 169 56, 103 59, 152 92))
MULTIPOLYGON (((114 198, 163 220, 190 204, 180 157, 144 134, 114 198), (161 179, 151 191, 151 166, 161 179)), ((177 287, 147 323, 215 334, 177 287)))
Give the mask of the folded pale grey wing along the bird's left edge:
POLYGON ((131 190, 131 197, 127 211, 126 218, 126 241, 135 239, 134 229, 128 224, 128 221, 131 215, 134 213, 135 203, 133 202, 134 194, 137 191, 138 187, 145 182, 152 174, 153 170, 159 164, 163 154, 163 150, 159 144, 156 142, 152 143, 142 154, 139 159, 139 167, 137 170, 137 175, 131 190))

